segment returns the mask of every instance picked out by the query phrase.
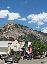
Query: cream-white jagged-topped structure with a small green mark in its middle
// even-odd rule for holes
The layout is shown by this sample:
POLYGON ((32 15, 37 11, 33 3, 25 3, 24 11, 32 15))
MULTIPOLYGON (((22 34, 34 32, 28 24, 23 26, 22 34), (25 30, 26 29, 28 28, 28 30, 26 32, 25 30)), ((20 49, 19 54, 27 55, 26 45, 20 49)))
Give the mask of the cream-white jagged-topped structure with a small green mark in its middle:
POLYGON ((21 48, 24 46, 25 42, 18 42, 17 40, 13 41, 10 45, 10 48, 14 51, 20 51, 21 48))

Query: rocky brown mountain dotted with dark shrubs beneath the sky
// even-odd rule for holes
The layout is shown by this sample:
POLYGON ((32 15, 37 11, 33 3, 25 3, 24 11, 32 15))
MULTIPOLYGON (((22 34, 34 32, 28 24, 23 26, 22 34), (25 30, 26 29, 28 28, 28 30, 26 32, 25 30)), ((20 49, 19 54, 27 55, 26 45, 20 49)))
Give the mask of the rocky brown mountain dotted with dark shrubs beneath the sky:
POLYGON ((47 43, 47 33, 29 29, 20 24, 7 24, 0 28, 0 40, 23 40, 24 38, 27 38, 28 41, 40 39, 47 43))

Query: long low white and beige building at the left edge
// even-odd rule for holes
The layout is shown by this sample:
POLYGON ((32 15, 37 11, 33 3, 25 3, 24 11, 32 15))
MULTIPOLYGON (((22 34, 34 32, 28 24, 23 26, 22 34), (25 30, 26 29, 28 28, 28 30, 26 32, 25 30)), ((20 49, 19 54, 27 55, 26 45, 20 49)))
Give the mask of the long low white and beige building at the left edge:
POLYGON ((10 41, 0 41, 0 55, 8 53, 8 43, 10 41))

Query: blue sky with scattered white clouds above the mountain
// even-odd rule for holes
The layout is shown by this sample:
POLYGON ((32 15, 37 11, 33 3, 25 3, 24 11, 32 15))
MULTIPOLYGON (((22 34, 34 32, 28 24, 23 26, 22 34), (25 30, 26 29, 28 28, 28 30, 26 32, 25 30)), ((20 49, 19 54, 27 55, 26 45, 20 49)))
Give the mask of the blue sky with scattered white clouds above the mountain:
POLYGON ((0 26, 8 22, 47 33, 47 0, 0 0, 0 26))

